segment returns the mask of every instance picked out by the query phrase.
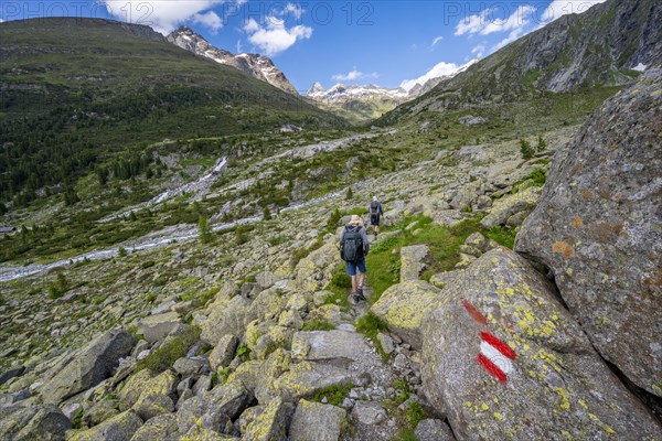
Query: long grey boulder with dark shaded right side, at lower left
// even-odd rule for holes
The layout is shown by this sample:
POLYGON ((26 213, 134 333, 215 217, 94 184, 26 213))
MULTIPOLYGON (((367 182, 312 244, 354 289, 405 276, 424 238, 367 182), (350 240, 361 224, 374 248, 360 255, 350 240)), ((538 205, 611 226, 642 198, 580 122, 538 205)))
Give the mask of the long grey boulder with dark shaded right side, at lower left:
POLYGON ((119 359, 131 353, 136 338, 125 330, 108 331, 64 356, 46 375, 40 392, 45 402, 57 404, 96 386, 113 375, 119 359))

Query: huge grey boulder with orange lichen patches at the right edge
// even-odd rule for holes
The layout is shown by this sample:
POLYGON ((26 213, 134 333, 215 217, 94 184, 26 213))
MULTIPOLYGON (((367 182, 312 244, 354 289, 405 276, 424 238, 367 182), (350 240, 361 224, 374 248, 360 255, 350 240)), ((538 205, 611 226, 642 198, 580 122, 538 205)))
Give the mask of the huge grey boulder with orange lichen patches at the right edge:
POLYGON ((548 267, 598 352, 662 397, 662 69, 557 151, 515 249, 548 267))

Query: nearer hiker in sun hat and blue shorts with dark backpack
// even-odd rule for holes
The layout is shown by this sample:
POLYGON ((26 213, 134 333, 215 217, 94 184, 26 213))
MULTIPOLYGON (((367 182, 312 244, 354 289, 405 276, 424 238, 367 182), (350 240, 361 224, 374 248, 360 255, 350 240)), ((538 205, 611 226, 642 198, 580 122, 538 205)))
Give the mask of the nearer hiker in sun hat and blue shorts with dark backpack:
POLYGON ((370 251, 367 235, 363 220, 352 215, 340 239, 340 256, 348 263, 348 276, 352 278, 352 298, 355 302, 364 301, 363 283, 365 283, 365 256, 370 251), (359 275, 356 273, 359 272, 359 275))

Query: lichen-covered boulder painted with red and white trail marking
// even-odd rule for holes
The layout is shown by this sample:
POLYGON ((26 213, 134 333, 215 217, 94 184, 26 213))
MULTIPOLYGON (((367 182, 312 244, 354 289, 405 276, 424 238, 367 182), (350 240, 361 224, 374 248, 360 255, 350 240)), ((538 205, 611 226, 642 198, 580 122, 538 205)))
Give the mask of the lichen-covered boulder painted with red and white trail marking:
POLYGON ((494 249, 441 293, 423 321, 423 388, 458 439, 662 437, 524 258, 494 249))

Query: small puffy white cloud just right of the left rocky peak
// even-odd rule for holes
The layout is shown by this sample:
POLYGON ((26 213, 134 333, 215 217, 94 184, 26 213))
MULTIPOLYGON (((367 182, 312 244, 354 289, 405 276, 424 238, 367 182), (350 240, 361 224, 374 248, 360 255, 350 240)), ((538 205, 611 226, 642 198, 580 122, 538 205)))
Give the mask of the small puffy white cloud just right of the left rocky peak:
POLYGON ((249 19, 243 29, 248 34, 250 44, 259 47, 268 56, 278 55, 298 40, 308 40, 312 35, 310 26, 299 24, 288 29, 282 21, 267 19, 266 22, 266 25, 260 25, 254 19, 249 19))

